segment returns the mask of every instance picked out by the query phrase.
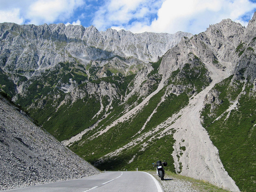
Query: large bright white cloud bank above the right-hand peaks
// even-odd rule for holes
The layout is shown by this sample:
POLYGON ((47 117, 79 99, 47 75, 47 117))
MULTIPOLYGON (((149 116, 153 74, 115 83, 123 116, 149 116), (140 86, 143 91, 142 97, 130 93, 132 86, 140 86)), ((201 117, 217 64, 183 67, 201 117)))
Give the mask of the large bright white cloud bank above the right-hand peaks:
MULTIPOLYGON (((177 31, 198 34, 206 30, 209 24, 230 18, 246 26, 244 15, 252 16, 256 3, 249 0, 165 0, 161 6, 150 9, 152 1, 111 0, 96 13, 93 24, 100 30, 112 26, 132 32, 168 32, 177 31), (155 13, 154 13, 155 11, 155 13), (149 22, 148 14, 157 17, 149 22)), ((154 3, 157 3, 156 1, 154 3)), ((158 4, 159 5, 159 4, 158 4)))

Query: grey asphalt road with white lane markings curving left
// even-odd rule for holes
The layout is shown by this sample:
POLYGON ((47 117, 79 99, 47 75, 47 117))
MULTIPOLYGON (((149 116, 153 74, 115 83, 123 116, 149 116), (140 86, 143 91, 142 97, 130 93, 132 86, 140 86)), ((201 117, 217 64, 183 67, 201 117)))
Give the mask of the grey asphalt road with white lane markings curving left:
POLYGON ((82 179, 35 185, 7 191, 145 191, 162 192, 158 181, 150 174, 140 171, 104 172, 82 179))

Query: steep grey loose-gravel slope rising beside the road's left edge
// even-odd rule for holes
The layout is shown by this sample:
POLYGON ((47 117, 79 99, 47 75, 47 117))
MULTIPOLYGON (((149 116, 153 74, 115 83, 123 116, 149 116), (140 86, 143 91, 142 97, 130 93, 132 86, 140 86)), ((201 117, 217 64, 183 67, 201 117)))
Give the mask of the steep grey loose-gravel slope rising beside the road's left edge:
POLYGON ((0 99, 0 190, 100 173, 0 99))

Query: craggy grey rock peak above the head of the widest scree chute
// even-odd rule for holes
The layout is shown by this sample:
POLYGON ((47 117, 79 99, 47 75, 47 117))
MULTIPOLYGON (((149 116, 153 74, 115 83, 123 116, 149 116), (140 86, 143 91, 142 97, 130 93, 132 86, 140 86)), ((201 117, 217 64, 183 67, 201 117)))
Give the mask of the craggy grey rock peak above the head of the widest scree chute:
POLYGON ((184 37, 179 44, 166 52, 159 73, 168 75, 182 68, 189 61, 189 53, 193 53, 203 63, 213 63, 217 68, 226 71, 227 75, 236 74, 236 78, 245 75, 253 82, 256 75, 253 49, 256 44, 255 18, 256 14, 247 28, 231 19, 224 19, 190 39, 184 37), (243 69, 245 70, 241 74, 243 69))

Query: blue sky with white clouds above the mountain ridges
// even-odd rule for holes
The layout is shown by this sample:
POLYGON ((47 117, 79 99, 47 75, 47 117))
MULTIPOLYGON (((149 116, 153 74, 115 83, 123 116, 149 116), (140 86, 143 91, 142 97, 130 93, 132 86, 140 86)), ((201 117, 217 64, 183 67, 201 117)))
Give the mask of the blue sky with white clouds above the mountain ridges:
POLYGON ((0 23, 199 34, 230 18, 247 26, 256 0, 0 0, 0 23))

